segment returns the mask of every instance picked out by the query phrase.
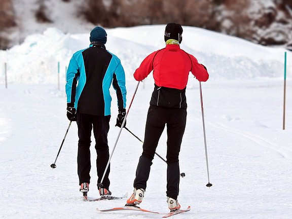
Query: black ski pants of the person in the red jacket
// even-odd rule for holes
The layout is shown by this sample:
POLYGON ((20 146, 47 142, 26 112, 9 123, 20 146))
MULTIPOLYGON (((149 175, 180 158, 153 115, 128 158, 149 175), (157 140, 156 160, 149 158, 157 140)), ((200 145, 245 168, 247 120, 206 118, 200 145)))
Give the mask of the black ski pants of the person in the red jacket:
POLYGON ((139 159, 134 180, 134 188, 144 189, 150 174, 150 167, 154 159, 159 138, 167 127, 167 186, 166 195, 177 199, 179 192, 179 163, 178 155, 182 136, 184 135, 187 121, 187 109, 163 108, 150 106, 143 143, 143 152, 139 159))

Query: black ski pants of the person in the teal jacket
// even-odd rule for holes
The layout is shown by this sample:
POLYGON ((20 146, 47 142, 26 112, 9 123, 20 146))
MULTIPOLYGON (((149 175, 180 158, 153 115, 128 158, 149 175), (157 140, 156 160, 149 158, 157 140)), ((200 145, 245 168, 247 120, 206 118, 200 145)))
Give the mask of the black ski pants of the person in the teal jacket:
MULTIPOLYGON (((109 130, 109 119, 111 116, 94 116, 88 114, 77 113, 77 125, 78 125, 78 176, 79 185, 83 182, 90 183, 90 143, 91 143, 91 131, 93 127, 93 135, 95 138, 95 150, 97 154, 96 169, 97 169, 97 184, 101 181, 106 164, 109 159, 108 145, 107 145, 107 133, 109 130)), ((106 174, 103 179, 103 188, 109 187, 109 171, 108 166, 106 174)))

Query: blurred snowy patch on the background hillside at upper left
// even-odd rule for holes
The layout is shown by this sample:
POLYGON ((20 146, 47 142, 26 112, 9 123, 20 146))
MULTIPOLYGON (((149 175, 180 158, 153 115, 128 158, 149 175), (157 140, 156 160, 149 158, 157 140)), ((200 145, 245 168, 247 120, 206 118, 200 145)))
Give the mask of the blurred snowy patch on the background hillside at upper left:
POLYGON ((48 27, 57 27, 64 32, 70 33, 86 33, 94 27, 86 22, 81 15, 84 5, 83 1, 14 0, 13 4, 19 28, 18 31, 15 31, 15 40, 19 42, 22 42, 27 35, 41 33, 48 27), (52 21, 51 23, 36 21, 35 12, 38 10, 41 2, 43 2, 45 7, 44 13, 52 21))

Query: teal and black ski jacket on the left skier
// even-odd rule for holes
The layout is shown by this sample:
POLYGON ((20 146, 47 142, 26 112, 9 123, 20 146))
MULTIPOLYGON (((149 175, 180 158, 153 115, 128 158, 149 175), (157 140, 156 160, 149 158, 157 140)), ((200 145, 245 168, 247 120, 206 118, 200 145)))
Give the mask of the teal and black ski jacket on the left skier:
POLYGON ((77 51, 72 56, 66 73, 67 103, 82 114, 111 115, 113 84, 118 108, 126 108, 125 71, 120 59, 98 42, 77 51))

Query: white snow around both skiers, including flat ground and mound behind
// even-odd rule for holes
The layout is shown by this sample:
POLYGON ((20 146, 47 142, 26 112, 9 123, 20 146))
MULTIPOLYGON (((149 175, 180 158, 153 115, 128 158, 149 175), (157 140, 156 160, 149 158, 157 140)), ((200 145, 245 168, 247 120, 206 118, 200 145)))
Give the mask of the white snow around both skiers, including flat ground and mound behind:
MULTIPOLYGON (((127 104, 137 82, 140 61, 164 47, 163 25, 106 29, 109 51, 121 58, 127 78, 127 104)), ((224 34, 184 27, 181 48, 206 65, 202 83, 211 188, 208 183, 199 83, 190 76, 188 122, 181 145, 179 203, 192 209, 174 218, 290 218, 292 212, 292 56, 287 52, 285 130, 283 117, 284 50, 249 43, 224 34)), ((66 114, 65 67, 76 50, 89 45, 89 33, 49 28, 23 44, 0 51, 0 218, 161 218, 143 212, 100 213, 124 200, 83 202, 77 176, 77 125, 73 123, 54 162, 69 121, 66 114), (60 90, 57 62, 60 62, 60 90), (4 62, 8 64, 5 88, 4 62)), ((151 75, 140 84, 127 127, 143 140, 153 90, 151 75), (137 122, 138 121, 138 122, 137 122)), ((116 102, 112 89, 113 103, 116 102)), ((112 152, 119 128, 112 104, 108 144, 112 152)), ((93 140, 93 139, 92 139, 93 140)), ((141 142, 123 130, 111 161, 111 191, 131 195, 141 142)), ((99 197, 96 154, 92 147, 89 197, 99 197)), ((166 155, 166 133, 157 153, 166 155)), ((142 208, 167 213, 166 164, 155 157, 142 208)))

